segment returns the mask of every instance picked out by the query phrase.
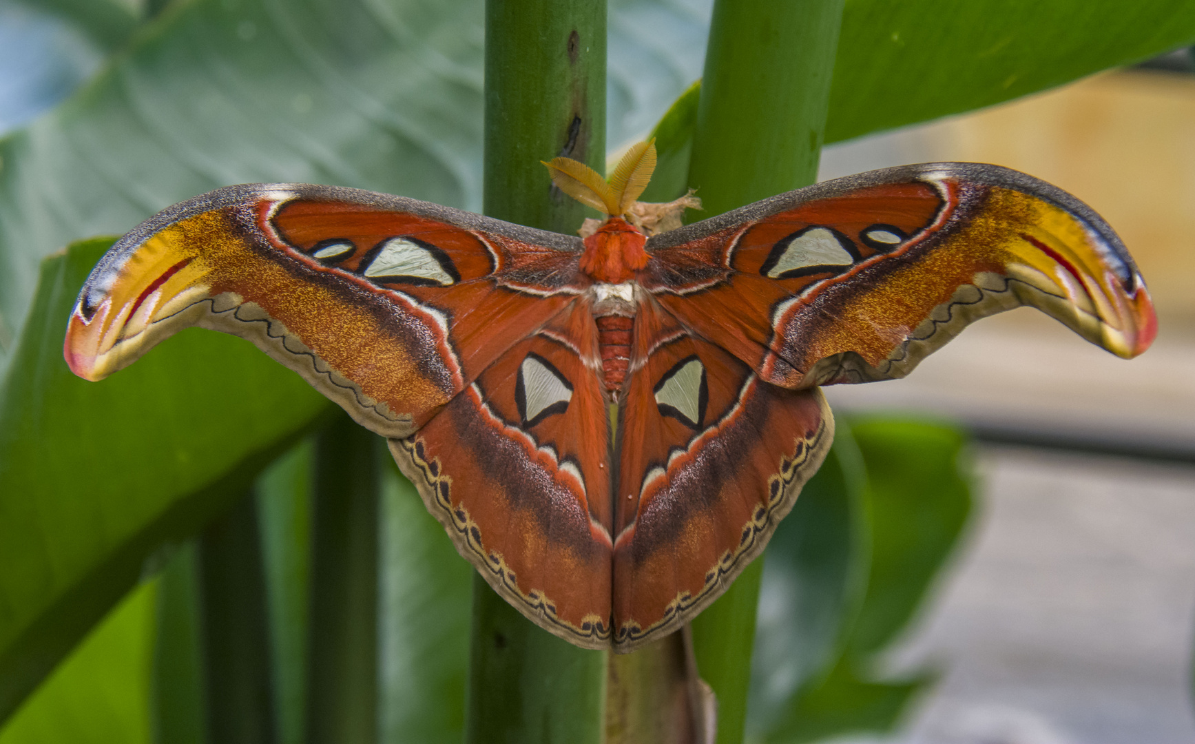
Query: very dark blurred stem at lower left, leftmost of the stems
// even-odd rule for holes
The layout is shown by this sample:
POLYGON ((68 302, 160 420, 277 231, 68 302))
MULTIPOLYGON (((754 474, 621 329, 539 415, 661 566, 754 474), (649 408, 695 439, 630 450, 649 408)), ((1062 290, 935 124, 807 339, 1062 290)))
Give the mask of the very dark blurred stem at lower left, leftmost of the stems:
POLYGON ((265 578, 257 505, 245 495, 200 538, 208 742, 272 744, 265 578))

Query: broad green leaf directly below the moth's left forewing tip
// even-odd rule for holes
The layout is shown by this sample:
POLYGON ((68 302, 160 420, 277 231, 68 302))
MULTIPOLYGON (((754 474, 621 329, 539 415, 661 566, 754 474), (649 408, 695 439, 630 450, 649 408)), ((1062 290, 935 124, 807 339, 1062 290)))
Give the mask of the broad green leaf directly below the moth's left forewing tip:
POLYGON ((43 264, 0 388, 0 716, 136 581, 329 403, 232 336, 192 329, 104 383, 62 359, 108 240, 43 264))

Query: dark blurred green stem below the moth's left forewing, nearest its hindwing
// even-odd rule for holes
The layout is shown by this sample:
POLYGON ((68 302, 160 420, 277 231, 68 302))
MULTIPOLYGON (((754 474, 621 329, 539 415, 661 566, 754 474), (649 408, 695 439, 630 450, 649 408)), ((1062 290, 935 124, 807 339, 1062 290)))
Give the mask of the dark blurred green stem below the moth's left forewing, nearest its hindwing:
POLYGON ((378 437, 338 415, 315 438, 310 744, 378 737, 378 437))

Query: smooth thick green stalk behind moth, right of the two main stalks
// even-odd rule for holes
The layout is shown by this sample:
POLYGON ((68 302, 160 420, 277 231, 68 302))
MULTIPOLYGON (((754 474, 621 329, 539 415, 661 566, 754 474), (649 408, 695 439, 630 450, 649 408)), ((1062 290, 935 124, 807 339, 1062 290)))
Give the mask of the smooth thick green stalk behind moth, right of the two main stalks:
MULTIPOLYGON (((842 0, 718 0, 688 184, 700 218, 813 183, 842 0)), ((718 744, 742 742, 762 560, 693 621, 698 670, 718 697, 718 744)))

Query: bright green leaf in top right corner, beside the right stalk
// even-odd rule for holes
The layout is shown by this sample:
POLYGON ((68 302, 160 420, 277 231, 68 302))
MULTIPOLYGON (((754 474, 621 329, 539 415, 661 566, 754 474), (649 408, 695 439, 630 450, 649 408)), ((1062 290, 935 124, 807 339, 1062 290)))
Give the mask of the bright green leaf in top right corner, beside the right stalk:
POLYGON ((1193 42, 1189 0, 847 0, 826 141, 988 106, 1193 42))

